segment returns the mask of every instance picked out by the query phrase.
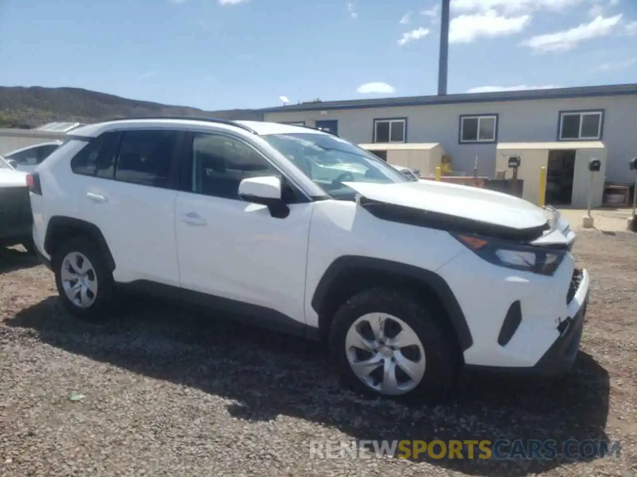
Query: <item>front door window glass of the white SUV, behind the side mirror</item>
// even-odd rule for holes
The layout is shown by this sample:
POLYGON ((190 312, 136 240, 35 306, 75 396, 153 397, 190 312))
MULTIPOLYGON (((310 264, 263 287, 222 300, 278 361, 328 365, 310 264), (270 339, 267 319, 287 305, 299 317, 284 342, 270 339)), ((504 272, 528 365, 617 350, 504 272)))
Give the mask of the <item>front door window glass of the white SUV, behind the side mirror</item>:
POLYGON ((241 181, 257 176, 280 173, 245 142, 220 134, 194 134, 192 192, 239 200, 241 181))

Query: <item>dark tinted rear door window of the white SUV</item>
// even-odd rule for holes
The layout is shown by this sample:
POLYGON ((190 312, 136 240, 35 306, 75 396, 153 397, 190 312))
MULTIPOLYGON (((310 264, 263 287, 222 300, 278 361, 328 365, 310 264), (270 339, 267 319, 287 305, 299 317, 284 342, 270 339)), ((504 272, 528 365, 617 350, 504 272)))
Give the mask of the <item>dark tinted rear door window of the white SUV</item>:
MULTIPOLYGON (((144 186, 168 188, 180 132, 131 130, 122 132, 115 179, 144 186)), ((110 167, 108 162, 106 167, 110 167)), ((108 170, 108 169, 107 169, 108 170)))

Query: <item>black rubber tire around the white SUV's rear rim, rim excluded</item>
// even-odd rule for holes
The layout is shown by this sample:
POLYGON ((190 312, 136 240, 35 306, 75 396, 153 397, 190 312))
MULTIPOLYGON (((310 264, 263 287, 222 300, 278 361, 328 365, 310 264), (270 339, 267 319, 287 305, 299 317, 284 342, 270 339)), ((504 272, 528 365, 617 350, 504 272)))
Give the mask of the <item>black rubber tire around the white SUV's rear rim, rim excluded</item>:
POLYGON ((55 273, 55 285, 60 300, 73 315, 90 322, 100 322, 108 317, 115 304, 115 283, 113 282, 113 274, 108 269, 106 260, 95 242, 87 237, 73 237, 67 240, 53 253, 51 265, 55 273), (64 286, 62 286, 62 261, 71 252, 80 252, 89 259, 97 277, 95 300, 87 308, 78 307, 69 300, 64 286))

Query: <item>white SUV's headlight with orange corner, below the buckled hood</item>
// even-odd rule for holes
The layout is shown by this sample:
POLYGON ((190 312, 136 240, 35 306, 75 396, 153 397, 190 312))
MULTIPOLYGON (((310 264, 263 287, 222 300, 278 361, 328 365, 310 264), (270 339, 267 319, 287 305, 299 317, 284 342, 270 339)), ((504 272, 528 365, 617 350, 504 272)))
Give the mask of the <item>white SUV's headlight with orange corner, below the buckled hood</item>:
POLYGON ((480 258, 494 265, 506 266, 522 272, 553 275, 567 251, 516 244, 505 240, 489 239, 478 235, 452 233, 455 239, 471 249, 480 258))

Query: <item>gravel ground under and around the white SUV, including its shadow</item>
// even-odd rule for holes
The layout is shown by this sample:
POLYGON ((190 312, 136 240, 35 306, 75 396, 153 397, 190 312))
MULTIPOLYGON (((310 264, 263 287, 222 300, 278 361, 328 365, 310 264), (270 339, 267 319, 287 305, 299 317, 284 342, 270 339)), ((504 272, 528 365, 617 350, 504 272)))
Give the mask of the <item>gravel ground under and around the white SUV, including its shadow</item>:
POLYGON ((637 238, 581 232, 592 296, 561 380, 468 375, 445 406, 341 391, 316 345, 150 300, 87 326, 0 253, 1 476, 637 475, 637 238), (73 393, 81 393, 73 400, 73 393), (619 439, 596 460, 310 459, 315 439, 619 439))

